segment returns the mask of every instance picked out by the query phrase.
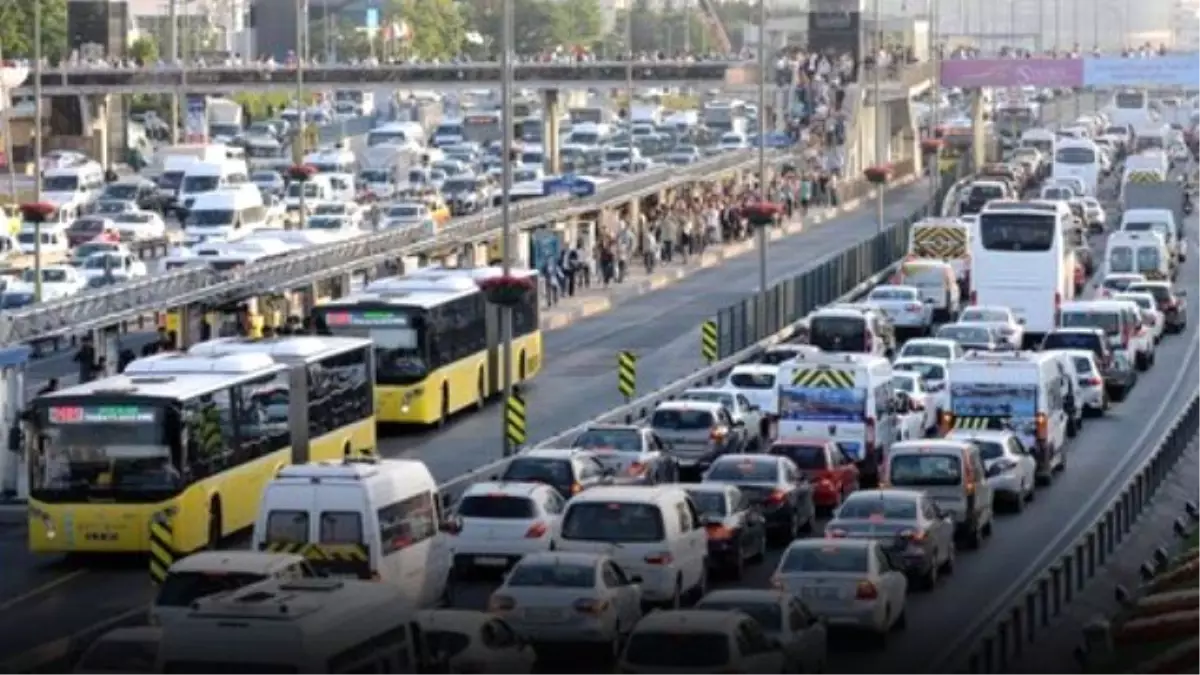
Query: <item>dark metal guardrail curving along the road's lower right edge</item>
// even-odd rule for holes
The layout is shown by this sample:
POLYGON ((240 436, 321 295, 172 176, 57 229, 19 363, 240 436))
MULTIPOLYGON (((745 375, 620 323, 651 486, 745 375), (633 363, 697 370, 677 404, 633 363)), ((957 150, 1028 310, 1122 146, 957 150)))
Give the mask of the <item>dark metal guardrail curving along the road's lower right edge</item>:
MULTIPOLYGON (((1192 396, 1154 449, 1108 500, 1092 522, 1048 566, 1036 567, 980 614, 965 638, 929 673, 1000 675, 1021 657, 1026 645, 1050 628, 1133 531, 1184 450, 1200 435, 1200 393, 1192 396)), ((1115 480, 1110 480, 1109 484, 1115 480)), ((1104 488, 1108 488, 1105 485, 1104 488)), ((1104 489, 1099 494, 1104 494, 1104 489)))

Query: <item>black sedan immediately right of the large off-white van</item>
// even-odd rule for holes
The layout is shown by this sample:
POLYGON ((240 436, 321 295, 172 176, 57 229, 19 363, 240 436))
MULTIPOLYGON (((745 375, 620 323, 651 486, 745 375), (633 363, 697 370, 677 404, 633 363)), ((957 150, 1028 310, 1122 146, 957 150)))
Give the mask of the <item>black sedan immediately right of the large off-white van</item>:
POLYGON ((709 568, 742 579, 746 561, 762 560, 767 554, 762 512, 733 485, 701 483, 686 490, 708 533, 709 568))

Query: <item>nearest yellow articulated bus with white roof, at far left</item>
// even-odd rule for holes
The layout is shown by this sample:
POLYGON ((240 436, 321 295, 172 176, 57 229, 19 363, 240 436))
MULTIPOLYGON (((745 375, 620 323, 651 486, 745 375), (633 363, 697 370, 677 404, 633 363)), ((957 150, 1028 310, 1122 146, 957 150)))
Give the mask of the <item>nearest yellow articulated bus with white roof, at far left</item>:
POLYGON ((250 527, 286 465, 376 447, 367 340, 215 340, 34 400, 29 548, 179 554, 250 527))

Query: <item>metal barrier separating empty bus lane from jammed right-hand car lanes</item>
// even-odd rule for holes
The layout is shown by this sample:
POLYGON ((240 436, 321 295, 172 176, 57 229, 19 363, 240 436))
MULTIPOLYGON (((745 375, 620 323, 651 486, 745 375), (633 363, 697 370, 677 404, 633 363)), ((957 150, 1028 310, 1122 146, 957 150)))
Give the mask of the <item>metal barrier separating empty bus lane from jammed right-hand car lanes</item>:
MULTIPOLYGON (((944 190, 949 186, 949 184, 954 183, 954 180, 956 180, 956 177, 943 178, 943 185, 938 191, 937 199, 935 199, 934 203, 941 202, 941 196, 944 195, 944 190)), ((776 285, 785 286, 788 283, 796 283, 800 279, 811 276, 820 276, 827 280, 820 286, 814 286, 812 291, 804 295, 804 300, 796 305, 794 311, 803 312, 793 315, 797 317, 797 321, 803 318, 804 315, 817 306, 858 298, 866 293, 866 291, 869 291, 872 286, 890 276, 895 270, 895 265, 899 259, 904 255, 904 251, 895 252, 894 246, 896 245, 896 241, 902 240, 906 244, 908 228, 917 220, 925 217, 928 205, 922 207, 901 222, 889 226, 884 232, 876 234, 865 241, 860 241, 854 246, 830 253, 794 277, 776 285), (888 255, 892 257, 888 257, 888 255), (832 274, 830 270, 836 270, 836 274, 832 274)), ((548 438, 536 443, 536 447, 569 446, 575 437, 582 434, 592 424, 630 424, 638 419, 644 419, 650 412, 654 411, 654 407, 658 404, 674 399, 685 389, 694 387, 708 387, 724 381, 733 366, 752 360, 768 347, 787 341, 794 334, 794 323, 780 325, 776 333, 766 336, 758 342, 745 346, 737 353, 713 365, 706 366, 686 377, 677 380, 671 384, 667 384, 666 387, 662 387, 659 390, 642 396, 630 404, 613 408, 584 424, 558 431, 548 438)), ((502 472, 509 461, 509 459, 500 459, 486 464, 446 480, 440 484, 438 489, 442 495, 451 502, 457 501, 462 491, 466 490, 472 483, 487 479, 490 476, 502 472)))

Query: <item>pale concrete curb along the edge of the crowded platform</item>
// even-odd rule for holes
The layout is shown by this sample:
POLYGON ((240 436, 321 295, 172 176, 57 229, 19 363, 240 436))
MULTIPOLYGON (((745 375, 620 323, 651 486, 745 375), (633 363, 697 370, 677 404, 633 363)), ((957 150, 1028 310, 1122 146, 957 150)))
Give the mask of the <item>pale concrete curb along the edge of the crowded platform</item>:
MULTIPOLYGON (((907 175, 888 185, 888 190, 896 190, 900 187, 905 187, 907 185, 916 183, 918 178, 924 178, 924 177, 918 177, 916 174, 907 175)), ((803 233, 805 227, 815 227, 818 225, 823 225, 824 222, 830 221, 835 217, 852 213, 857 210, 859 207, 865 205, 866 202, 874 199, 876 195, 877 192, 872 190, 868 192, 865 196, 859 197, 857 199, 851 199, 848 202, 839 204, 838 207, 826 208, 820 213, 810 214, 808 219, 788 222, 782 228, 772 229, 770 233, 768 234, 768 240, 778 241, 780 239, 786 239, 794 234, 803 233)), ((611 311, 613 307, 616 307, 617 305, 622 304, 625 300, 646 295, 648 293, 653 293, 654 291, 660 291, 662 288, 666 288, 667 286, 671 286, 672 283, 676 283, 677 281, 682 281, 691 276, 692 274, 696 274, 697 271, 710 269, 714 267, 720 267, 731 258, 736 258, 738 256, 743 256, 745 253, 754 251, 756 246, 757 243, 752 238, 745 241, 738 241, 736 244, 724 245, 715 250, 701 253, 698 256, 700 259, 698 264, 689 264, 682 268, 660 270, 654 273, 649 277, 642 279, 629 286, 623 286, 619 288, 611 287, 616 292, 611 292, 606 295, 593 295, 589 298, 584 298, 577 303, 577 306, 566 309, 565 311, 559 311, 558 313, 550 313, 550 312, 544 313, 540 319, 541 329, 559 330, 571 325, 572 323, 583 321, 584 318, 605 313, 607 311, 611 311)))

